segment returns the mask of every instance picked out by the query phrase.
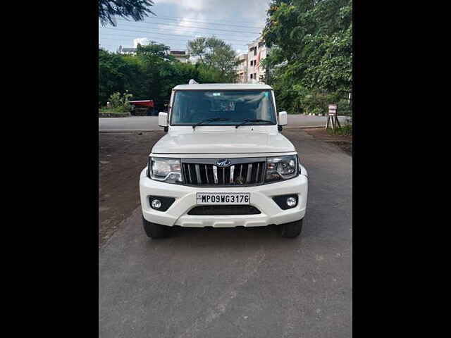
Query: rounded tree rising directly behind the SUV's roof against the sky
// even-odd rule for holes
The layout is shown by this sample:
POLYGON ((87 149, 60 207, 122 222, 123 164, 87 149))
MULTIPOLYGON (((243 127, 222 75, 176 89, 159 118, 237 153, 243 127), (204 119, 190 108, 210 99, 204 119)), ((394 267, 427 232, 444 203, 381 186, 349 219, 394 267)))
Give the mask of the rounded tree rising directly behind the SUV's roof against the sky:
POLYGON ((222 82, 235 80, 235 69, 240 61, 230 44, 216 37, 198 37, 188 42, 187 49, 192 56, 199 56, 204 70, 218 73, 222 82))

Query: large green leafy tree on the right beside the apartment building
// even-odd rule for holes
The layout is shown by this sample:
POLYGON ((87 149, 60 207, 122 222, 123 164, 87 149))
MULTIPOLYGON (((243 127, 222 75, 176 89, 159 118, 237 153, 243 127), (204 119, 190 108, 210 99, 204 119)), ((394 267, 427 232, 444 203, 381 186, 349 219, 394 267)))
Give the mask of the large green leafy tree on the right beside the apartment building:
POLYGON ((352 0, 273 0, 263 65, 278 105, 325 112, 352 91, 352 0))

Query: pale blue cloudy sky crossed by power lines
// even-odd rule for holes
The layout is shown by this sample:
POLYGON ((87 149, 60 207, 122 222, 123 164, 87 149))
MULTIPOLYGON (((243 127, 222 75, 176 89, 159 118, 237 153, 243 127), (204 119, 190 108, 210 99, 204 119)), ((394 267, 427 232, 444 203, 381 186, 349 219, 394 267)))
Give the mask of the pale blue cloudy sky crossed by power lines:
POLYGON ((156 14, 144 21, 117 18, 116 27, 99 23, 99 44, 109 51, 135 47, 150 40, 186 50, 188 40, 214 35, 231 44, 238 54, 259 37, 269 0, 154 0, 156 14))

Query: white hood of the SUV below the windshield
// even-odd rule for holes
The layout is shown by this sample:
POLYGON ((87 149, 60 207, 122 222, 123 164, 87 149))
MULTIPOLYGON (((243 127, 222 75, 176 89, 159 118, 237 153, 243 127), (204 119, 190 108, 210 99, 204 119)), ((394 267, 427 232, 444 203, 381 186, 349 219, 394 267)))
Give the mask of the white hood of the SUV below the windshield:
POLYGON ((295 151, 288 139, 268 132, 169 132, 156 142, 153 154, 240 154, 295 151))

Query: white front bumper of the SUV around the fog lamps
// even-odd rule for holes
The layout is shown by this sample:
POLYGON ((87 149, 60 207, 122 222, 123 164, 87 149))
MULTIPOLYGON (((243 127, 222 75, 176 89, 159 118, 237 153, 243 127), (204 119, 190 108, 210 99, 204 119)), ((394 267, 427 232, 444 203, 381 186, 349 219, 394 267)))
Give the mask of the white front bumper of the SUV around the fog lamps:
MULTIPOLYGON (((305 170, 304 170, 305 171, 305 170)), ((142 215, 146 220, 161 225, 181 227, 260 227, 271 224, 294 222, 304 218, 307 207, 306 175, 290 180, 263 184, 255 187, 187 187, 149 179, 147 168, 140 175, 140 198, 142 215), (250 203, 261 211, 259 215, 188 215, 197 206, 197 192, 250 192, 250 203), (295 208, 282 210, 273 196, 297 194, 295 208), (149 196, 174 197, 175 201, 167 211, 156 211, 149 204, 149 196)))

